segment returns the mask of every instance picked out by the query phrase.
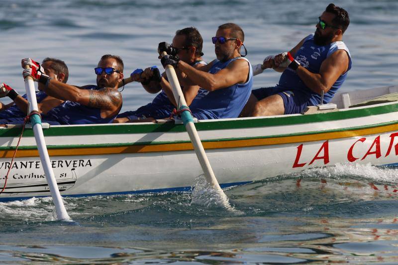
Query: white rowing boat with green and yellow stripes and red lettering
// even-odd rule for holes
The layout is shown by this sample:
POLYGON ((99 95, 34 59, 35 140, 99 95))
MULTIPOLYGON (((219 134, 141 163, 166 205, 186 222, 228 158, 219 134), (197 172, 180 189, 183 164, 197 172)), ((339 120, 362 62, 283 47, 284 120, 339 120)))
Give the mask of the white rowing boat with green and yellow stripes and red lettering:
MULTIPOLYGON (((304 114, 195 125, 223 187, 338 163, 392 166, 398 165, 398 101, 384 96, 349 106, 396 92, 398 86, 338 93, 334 106, 304 114)), ((19 126, 0 129, 0 187, 20 132, 19 126)), ((59 125, 43 132, 63 196, 189 190, 202 174, 178 120, 59 125)), ((27 128, 0 201, 49 195, 33 131, 27 128)))

